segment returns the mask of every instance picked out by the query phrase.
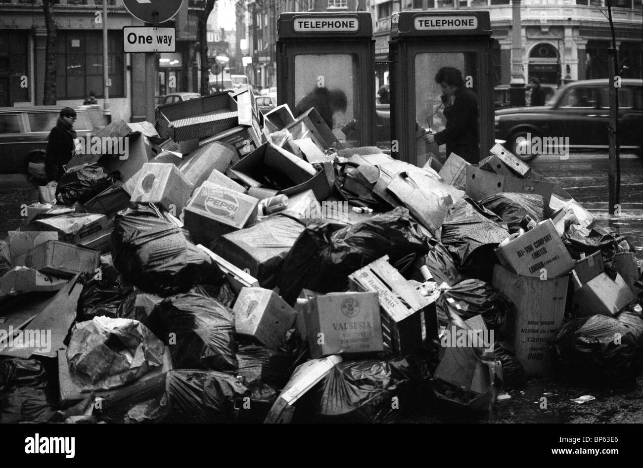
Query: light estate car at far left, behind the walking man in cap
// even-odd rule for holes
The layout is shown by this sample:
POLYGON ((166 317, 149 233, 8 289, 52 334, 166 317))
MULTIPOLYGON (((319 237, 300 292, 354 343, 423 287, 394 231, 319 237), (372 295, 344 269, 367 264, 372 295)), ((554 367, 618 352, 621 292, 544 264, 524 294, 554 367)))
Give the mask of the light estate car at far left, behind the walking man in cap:
MULTIPOLYGON (((56 126, 62 106, 0 107, 0 174, 26 174, 29 162, 44 160, 47 137, 56 126)), ((76 109, 78 136, 96 129, 87 109, 76 109)))

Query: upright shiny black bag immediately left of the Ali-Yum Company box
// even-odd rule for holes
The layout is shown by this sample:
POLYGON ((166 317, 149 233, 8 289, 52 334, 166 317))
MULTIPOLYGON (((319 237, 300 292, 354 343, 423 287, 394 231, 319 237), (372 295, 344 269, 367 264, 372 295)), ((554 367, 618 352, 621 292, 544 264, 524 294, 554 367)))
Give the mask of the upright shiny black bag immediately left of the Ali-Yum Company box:
POLYGON ((494 249, 509 237, 502 219, 464 197, 447 212, 440 241, 455 260, 458 271, 491 282, 496 263, 494 249))

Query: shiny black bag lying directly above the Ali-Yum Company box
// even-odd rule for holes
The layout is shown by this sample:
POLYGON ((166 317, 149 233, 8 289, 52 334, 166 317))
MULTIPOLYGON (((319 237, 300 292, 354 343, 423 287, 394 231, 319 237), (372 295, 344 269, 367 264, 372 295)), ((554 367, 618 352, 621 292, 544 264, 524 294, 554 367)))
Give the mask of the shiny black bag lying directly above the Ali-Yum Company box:
POLYGON ((502 192, 489 195, 480 201, 480 204, 500 216, 510 233, 520 230, 520 220, 527 215, 536 222, 541 222, 551 215, 549 206, 541 195, 502 192))

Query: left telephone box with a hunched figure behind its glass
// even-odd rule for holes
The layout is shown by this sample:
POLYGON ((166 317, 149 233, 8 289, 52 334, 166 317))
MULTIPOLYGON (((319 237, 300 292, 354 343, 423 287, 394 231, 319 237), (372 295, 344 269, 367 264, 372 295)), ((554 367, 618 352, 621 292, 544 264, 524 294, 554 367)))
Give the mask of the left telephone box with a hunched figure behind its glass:
POLYGON ((341 147, 374 145, 375 41, 367 12, 281 13, 277 102, 314 107, 341 147))

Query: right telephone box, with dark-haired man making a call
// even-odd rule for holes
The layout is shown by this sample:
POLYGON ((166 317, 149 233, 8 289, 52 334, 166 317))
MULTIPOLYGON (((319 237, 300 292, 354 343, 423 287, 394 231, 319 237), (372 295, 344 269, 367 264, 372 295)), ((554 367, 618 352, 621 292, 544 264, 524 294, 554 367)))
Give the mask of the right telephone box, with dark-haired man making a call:
POLYGON ((393 156, 420 167, 430 156, 448 156, 446 149, 456 154, 461 150, 458 156, 471 163, 487 156, 494 144, 491 49, 489 12, 394 13, 389 42, 391 134, 398 151, 393 156), (443 95, 435 82, 442 67, 462 73, 464 86, 453 97, 443 95), (427 143, 424 134, 445 129, 446 108, 452 122, 439 139, 448 138, 450 144, 427 143))

